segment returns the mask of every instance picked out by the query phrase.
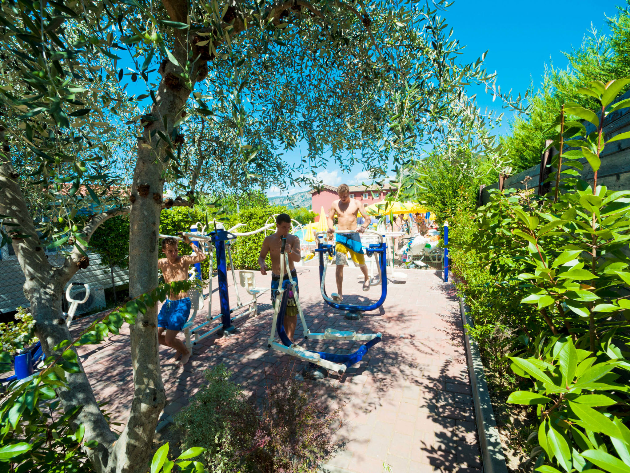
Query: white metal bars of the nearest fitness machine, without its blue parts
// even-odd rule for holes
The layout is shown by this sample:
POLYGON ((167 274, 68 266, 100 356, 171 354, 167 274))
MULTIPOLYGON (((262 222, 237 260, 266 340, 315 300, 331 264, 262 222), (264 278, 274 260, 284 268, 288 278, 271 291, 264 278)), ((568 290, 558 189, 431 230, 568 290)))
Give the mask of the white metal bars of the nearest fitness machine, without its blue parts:
MULTIPOLYGON (((326 232, 324 232, 326 233, 326 232)), ((348 369, 348 366, 334 363, 333 361, 328 361, 326 359, 321 358, 319 353, 315 353, 313 351, 309 351, 298 344, 294 343, 290 347, 284 346, 282 343, 278 343, 275 341, 276 339, 276 328, 278 323, 278 312, 280 311, 280 303, 282 301, 282 294, 286 289, 284 289, 282 282, 284 281, 284 275, 289 275, 289 288, 295 288, 295 282, 293 277, 291 276, 290 271, 286 271, 286 268, 289 267, 289 255, 283 254, 280 256, 280 283, 278 284, 278 293, 276 295, 275 304, 273 307, 273 320, 272 320, 272 331, 268 340, 267 346, 277 351, 282 351, 282 353, 289 354, 291 356, 295 356, 296 358, 302 359, 304 361, 309 361, 310 363, 314 363, 315 365, 322 366, 327 370, 337 371, 340 375, 343 375, 345 371, 348 369)), ((325 267, 325 266, 324 266, 325 267)), ((299 294, 297 291, 293 291, 295 298, 295 305, 297 306, 297 312, 300 317, 300 322, 302 323, 302 330, 305 339, 314 339, 314 340, 364 340, 370 341, 375 339, 376 337, 382 337, 381 332, 377 334, 357 334, 355 330, 348 330, 343 332, 341 330, 335 329, 326 329, 323 333, 311 332, 309 330, 308 325, 306 324, 306 319, 304 318, 304 312, 302 312, 302 305, 300 303, 299 294)))

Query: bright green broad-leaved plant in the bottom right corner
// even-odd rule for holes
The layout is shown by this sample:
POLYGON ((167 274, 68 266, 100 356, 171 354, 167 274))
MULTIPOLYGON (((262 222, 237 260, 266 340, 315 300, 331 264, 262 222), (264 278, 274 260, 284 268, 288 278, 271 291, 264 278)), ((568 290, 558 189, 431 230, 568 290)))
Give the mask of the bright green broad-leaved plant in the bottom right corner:
POLYGON ((537 406, 538 442, 546 453, 538 458, 537 470, 557 473, 543 465, 555 459, 566 472, 593 465, 611 473, 630 472, 630 429, 622 421, 629 388, 616 383, 620 375, 613 371, 630 364, 624 359, 598 363, 600 358, 607 357, 576 348, 571 337, 541 342, 530 358, 510 357, 515 372, 534 381, 534 390, 513 392, 508 402, 537 406))

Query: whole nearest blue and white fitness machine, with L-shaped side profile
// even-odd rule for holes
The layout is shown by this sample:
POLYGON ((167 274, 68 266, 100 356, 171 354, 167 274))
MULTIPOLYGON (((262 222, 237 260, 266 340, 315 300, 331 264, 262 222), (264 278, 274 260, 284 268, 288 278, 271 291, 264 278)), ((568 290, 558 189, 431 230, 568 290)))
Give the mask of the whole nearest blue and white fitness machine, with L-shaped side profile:
MULTIPOLYGON (((326 370, 334 370, 339 375, 343 375, 348 369, 348 366, 352 366, 365 356, 368 349, 381 341, 382 334, 357 334, 355 330, 348 330, 347 332, 341 332, 335 329, 326 329, 323 333, 311 333, 306 325, 304 319, 304 312, 302 312, 302 306, 300 305, 299 295, 295 291, 295 282, 291 277, 291 272, 287 271, 289 267, 289 255, 285 254, 284 248, 287 243, 286 238, 282 238, 282 246, 280 247, 280 283, 278 289, 275 289, 276 300, 273 307, 273 321, 272 332, 269 337, 267 346, 274 350, 282 351, 282 353, 290 354, 296 358, 304 361, 309 361, 314 365, 322 366, 326 370), (289 287, 284 289, 284 275, 289 275, 289 287), (308 340, 365 340, 367 343, 361 346, 355 353, 350 354, 336 354, 326 353, 325 351, 311 351, 302 348, 298 344, 292 343, 289 340, 284 330, 284 317, 287 312, 287 302, 289 301, 289 289, 293 291, 295 298, 295 305, 297 305, 297 312, 300 316, 302 323, 302 330, 304 331, 304 339, 308 340), (275 341, 275 333, 278 333, 280 341, 275 341)), ((380 247, 380 245, 377 245, 380 247)), ((321 259, 320 254, 320 259, 321 259)), ((382 301, 381 301, 382 302, 382 301)))

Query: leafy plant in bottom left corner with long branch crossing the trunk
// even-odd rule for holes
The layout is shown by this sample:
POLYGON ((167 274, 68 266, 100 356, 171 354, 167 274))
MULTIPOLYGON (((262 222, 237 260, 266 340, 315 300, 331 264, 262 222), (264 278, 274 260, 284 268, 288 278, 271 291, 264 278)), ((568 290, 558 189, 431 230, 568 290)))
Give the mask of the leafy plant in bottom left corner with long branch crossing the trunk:
MULTIPOLYGON (((125 322, 134 324, 139 313, 163 301, 169 291, 178 293, 191 285, 190 281, 175 281, 130 300, 95 320, 76 339, 55 346, 55 356, 47 357, 30 380, 9 383, 0 394, 0 473, 92 471, 86 453, 98 448, 98 442, 85 441, 84 425, 74 421, 82 406, 62 412, 58 397, 58 391, 67 388, 67 373, 81 371, 74 347, 98 344, 108 334, 118 334, 125 322)), ((11 368, 11 354, 3 348, 0 372, 11 368)), ((109 423, 108 415, 103 414, 109 423)))

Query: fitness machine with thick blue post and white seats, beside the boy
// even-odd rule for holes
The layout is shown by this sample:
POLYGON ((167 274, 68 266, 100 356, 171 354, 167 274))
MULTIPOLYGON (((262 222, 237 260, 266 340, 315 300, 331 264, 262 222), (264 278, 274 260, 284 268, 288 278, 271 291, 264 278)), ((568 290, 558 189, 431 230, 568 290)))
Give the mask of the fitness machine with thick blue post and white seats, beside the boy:
MULTIPOLYGON (((236 272, 234 271, 234 264, 232 262, 232 251, 231 251, 231 240, 235 240, 237 237, 247 237, 248 235, 255 235, 256 233, 260 233, 261 231, 268 230, 273 225, 265 225, 262 228, 254 231, 248 231, 245 233, 237 233, 234 232, 237 228, 244 226, 243 223, 239 223, 238 225, 230 228, 229 230, 224 230, 223 228, 217 228, 217 230, 211 231, 209 234, 205 233, 205 226, 201 226, 199 222, 197 225, 193 225, 191 227, 190 233, 183 233, 183 237, 188 237, 195 244, 202 243, 206 254, 210 258, 210 267, 212 267, 212 244, 214 244, 215 249, 215 257, 217 259, 217 277, 219 279, 219 305, 221 307, 221 312, 219 315, 215 315, 212 317, 212 277, 209 277, 209 288, 207 295, 203 296, 200 294, 195 295, 194 291, 191 291, 191 309, 192 313, 190 318, 188 318, 188 322, 184 324, 183 332, 186 338, 186 347, 192 349, 198 342, 202 341, 206 337, 210 337, 215 333, 219 335, 230 335, 234 333, 236 327, 232 325, 232 322, 235 322, 239 318, 243 318, 246 315, 251 313, 258 312, 258 296, 265 293, 267 288, 256 288, 255 279, 253 277, 252 271, 241 271, 240 279, 241 286, 246 288, 247 293, 252 297, 251 300, 241 301, 241 295, 238 291, 238 284, 236 283, 236 272), (197 231, 198 228, 201 227, 200 231, 197 231), (236 290, 236 306, 230 307, 229 294, 227 292, 227 262, 229 260, 230 270, 232 272, 232 280, 234 281, 234 289, 236 290), (203 309, 203 303, 205 299, 208 299, 208 315, 206 317, 205 322, 194 326, 195 323, 195 315, 197 315, 197 310, 203 309), (245 308, 245 310, 238 315, 232 316, 237 310, 245 308), (213 327, 210 330, 207 330, 207 326, 215 322, 215 320, 221 319, 221 324, 213 327), (207 330, 202 332, 202 329, 207 330), (194 340, 192 339, 194 337, 194 340)), ((169 235, 159 235, 160 238, 169 238, 169 235)), ((180 237, 172 237, 178 241, 181 241, 180 237)), ((192 279, 195 277, 194 272, 198 272, 198 277, 201 279, 201 266, 199 264, 199 268, 195 268, 194 265, 191 267, 193 270, 193 275, 190 277, 192 279)))

